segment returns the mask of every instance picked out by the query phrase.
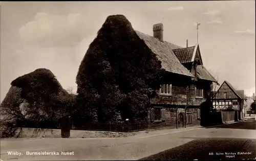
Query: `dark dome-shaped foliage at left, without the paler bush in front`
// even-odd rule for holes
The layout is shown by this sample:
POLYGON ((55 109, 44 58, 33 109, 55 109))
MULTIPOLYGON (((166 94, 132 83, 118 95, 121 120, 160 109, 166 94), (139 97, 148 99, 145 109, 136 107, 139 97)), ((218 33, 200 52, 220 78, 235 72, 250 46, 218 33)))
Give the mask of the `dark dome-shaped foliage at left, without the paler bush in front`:
POLYGON ((20 76, 11 85, 22 89, 20 97, 29 104, 27 110, 34 121, 58 120, 68 115, 75 105, 75 96, 63 89, 46 68, 20 76))

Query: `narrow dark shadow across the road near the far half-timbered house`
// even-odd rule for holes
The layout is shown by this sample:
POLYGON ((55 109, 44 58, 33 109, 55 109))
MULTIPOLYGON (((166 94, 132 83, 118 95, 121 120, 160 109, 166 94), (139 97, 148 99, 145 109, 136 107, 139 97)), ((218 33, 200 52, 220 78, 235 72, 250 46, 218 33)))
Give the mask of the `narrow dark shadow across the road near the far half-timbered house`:
POLYGON ((209 127, 209 128, 228 128, 228 129, 245 129, 245 130, 255 130, 256 129, 256 121, 248 120, 245 122, 239 122, 236 124, 228 124, 217 127, 209 127))

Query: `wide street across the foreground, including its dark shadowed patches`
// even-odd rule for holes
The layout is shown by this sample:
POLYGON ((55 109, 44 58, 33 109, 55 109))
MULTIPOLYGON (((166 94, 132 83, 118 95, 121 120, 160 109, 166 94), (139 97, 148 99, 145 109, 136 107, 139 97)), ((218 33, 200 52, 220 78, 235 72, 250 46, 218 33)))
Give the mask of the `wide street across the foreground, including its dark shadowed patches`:
POLYGON ((248 120, 212 128, 165 129, 119 138, 2 139, 1 159, 6 161, 255 158, 255 134, 255 120, 248 120))

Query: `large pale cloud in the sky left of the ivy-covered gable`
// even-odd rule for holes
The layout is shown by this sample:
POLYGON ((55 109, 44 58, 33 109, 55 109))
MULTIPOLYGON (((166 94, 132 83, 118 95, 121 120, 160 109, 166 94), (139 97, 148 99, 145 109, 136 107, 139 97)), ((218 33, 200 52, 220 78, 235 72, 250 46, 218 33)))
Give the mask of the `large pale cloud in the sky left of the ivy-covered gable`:
POLYGON ((19 28, 20 40, 23 46, 29 47, 73 46, 91 34, 92 23, 93 20, 83 19, 81 14, 53 15, 40 12, 34 20, 19 28))

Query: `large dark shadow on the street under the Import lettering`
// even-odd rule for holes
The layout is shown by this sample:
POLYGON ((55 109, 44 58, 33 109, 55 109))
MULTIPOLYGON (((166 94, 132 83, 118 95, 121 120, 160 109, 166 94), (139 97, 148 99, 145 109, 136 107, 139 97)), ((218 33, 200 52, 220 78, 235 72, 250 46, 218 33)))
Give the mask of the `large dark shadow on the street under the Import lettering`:
POLYGON ((256 140, 252 139, 197 139, 139 160, 254 159, 255 147, 256 140))

